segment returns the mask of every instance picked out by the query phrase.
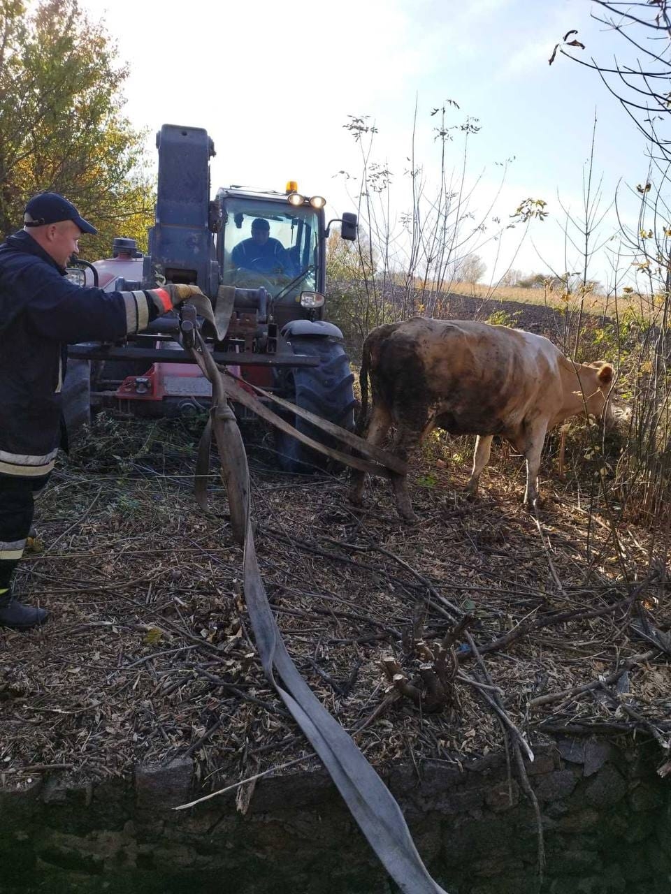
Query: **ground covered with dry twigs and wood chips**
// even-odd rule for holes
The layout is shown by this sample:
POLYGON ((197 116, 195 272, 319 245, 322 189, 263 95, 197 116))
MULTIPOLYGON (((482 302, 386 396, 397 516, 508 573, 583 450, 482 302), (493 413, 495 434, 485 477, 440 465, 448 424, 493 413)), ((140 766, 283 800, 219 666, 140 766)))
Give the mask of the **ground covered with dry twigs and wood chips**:
MULTIPOLYGON (((5 785, 47 770, 96 780, 191 755, 218 788, 315 760, 261 670, 214 457, 214 514, 193 499, 199 436, 199 422, 101 416, 59 460, 38 505, 38 552, 18 576, 51 620, 0 631, 5 785)), ((283 474, 272 436, 249 436, 276 619, 310 687, 373 763, 454 765, 500 749, 497 690, 483 685, 498 687, 531 746, 561 730, 667 742, 665 540, 608 510, 580 430, 563 478, 550 439, 539 519, 519 505, 522 458, 495 445, 480 499, 466 502, 471 441, 435 439, 413 470, 413 526, 397 518, 385 482, 369 484, 355 510, 344 474, 283 474), (441 644, 449 673, 436 699, 441 644)))

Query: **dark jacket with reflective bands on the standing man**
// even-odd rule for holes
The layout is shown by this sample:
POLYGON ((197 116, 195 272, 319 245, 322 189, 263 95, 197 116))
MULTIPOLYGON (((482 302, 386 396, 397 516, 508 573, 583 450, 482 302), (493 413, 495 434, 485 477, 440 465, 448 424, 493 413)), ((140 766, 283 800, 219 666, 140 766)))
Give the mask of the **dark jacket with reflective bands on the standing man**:
POLYGON ((116 341, 157 316, 144 292, 82 288, 29 233, 0 245, 0 474, 47 475, 61 441, 66 346, 116 341))

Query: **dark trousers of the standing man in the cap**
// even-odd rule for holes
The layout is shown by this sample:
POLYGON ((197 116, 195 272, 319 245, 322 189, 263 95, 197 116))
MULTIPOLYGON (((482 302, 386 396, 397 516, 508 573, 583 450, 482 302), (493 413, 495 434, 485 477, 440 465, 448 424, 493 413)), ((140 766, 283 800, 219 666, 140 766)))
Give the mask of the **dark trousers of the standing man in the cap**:
POLYGON ((48 479, 48 475, 35 478, 0 475, 0 591, 11 587, 14 569, 32 525, 35 496, 48 479))

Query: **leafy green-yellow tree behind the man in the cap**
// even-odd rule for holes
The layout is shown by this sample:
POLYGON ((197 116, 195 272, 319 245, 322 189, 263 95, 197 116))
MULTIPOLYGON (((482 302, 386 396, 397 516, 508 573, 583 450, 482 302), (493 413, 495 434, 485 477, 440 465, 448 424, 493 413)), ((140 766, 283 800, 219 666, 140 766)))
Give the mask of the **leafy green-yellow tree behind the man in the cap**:
POLYGON ((143 140, 123 116, 128 69, 77 0, 0 0, 0 227, 21 227, 25 203, 60 192, 100 231, 82 248, 109 253, 114 235, 144 244, 154 197, 143 140))

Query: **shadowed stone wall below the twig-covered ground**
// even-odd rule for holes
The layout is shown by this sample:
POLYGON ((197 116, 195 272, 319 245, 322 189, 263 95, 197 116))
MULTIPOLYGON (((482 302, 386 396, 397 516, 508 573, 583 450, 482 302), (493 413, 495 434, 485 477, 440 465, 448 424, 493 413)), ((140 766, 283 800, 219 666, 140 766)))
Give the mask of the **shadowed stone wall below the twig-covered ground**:
MULTIPOLYGON (((655 743, 559 739, 527 766, 537 823, 502 755, 463 771, 400 767, 386 782, 448 894, 669 894, 671 780, 655 743)), ((183 812, 190 761, 134 780, 66 787, 57 777, 0 793, 2 894, 391 894, 324 772, 260 780, 248 814, 234 794, 183 812)))

